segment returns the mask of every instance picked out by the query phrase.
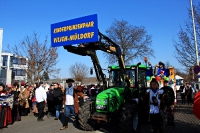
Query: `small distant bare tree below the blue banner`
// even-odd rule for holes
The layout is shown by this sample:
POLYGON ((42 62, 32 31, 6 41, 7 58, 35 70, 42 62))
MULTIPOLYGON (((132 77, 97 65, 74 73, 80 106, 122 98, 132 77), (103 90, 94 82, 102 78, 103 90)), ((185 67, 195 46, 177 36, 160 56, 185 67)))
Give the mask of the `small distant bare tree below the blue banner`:
POLYGON ((89 68, 85 64, 75 63, 69 68, 71 77, 75 78, 76 81, 82 81, 88 76, 89 68))

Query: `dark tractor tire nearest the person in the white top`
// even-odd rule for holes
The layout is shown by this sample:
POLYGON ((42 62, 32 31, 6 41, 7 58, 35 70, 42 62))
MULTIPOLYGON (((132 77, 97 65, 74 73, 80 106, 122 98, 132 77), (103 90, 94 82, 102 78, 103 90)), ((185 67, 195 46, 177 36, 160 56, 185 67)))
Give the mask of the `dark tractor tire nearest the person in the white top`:
POLYGON ((134 133, 138 130, 138 112, 134 104, 125 104, 120 113, 120 132, 134 133))

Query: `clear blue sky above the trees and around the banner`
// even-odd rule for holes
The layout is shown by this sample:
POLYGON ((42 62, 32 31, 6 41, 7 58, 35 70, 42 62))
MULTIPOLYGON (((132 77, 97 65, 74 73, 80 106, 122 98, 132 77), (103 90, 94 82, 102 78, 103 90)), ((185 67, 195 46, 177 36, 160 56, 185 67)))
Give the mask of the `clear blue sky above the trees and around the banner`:
MULTIPOLYGON (((193 0, 194 5, 198 2, 193 0)), ((102 33, 105 33, 114 19, 126 20, 134 26, 144 26, 147 34, 152 35, 152 48, 155 51, 155 58, 150 58, 150 62, 157 64, 159 61, 169 61, 174 67, 183 68, 173 57, 175 50, 172 40, 178 41, 177 33, 188 19, 188 9, 190 0, 1 0, 3 50, 7 49, 8 44, 19 44, 34 31, 40 34, 41 41, 47 35, 50 46, 51 24, 97 14, 98 27, 102 33)), ((56 67, 61 68, 58 77, 69 77, 69 67, 75 62, 92 67, 89 57, 68 53, 63 47, 58 48, 58 53, 59 62, 56 67)), ((102 67, 107 68, 102 52, 98 52, 98 57, 102 67)))

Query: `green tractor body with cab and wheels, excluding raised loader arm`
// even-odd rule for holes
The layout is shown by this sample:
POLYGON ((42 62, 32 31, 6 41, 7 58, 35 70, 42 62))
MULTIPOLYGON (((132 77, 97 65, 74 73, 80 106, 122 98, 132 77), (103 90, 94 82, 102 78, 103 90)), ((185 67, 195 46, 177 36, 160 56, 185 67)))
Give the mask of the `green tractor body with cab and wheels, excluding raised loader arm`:
MULTIPOLYGON (((120 132, 134 132, 138 130, 138 118, 146 119, 142 106, 138 107, 135 100, 145 94, 147 88, 145 65, 126 66, 126 76, 129 83, 123 82, 119 66, 109 66, 108 89, 99 93, 95 101, 86 102, 79 111, 79 123, 84 130, 93 130, 100 121, 117 120, 120 132), (128 88, 127 88, 128 87, 128 88), (138 113, 139 109, 143 111, 138 113)), ((147 104, 145 104, 147 105, 147 104)), ((147 108, 145 109, 147 110, 147 108)))

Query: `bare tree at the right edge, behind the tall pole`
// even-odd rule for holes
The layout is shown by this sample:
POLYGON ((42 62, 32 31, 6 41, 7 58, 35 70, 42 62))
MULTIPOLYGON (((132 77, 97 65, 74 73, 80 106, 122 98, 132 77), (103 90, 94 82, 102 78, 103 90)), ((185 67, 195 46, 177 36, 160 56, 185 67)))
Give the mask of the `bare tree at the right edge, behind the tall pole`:
MULTIPOLYGON (((178 41, 174 42, 174 57, 178 62, 187 68, 187 70, 196 63, 196 52, 194 43, 194 31, 192 25, 191 10, 189 12, 189 19, 185 21, 185 29, 180 27, 178 33, 178 41)), ((198 51, 200 50, 200 3, 199 6, 194 6, 194 18, 196 26, 196 35, 198 43, 198 51)), ((199 55, 199 53, 198 53, 199 55)))

